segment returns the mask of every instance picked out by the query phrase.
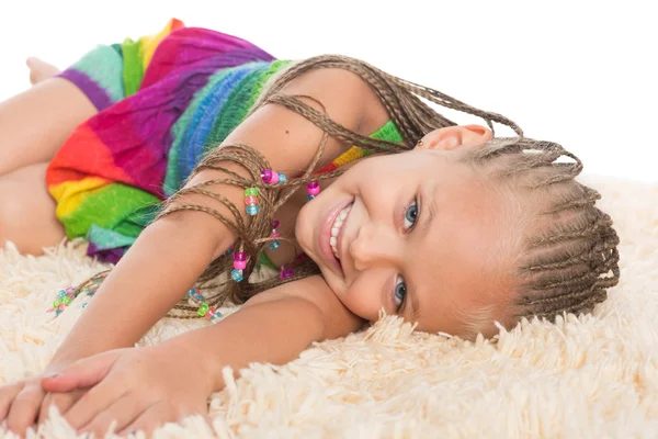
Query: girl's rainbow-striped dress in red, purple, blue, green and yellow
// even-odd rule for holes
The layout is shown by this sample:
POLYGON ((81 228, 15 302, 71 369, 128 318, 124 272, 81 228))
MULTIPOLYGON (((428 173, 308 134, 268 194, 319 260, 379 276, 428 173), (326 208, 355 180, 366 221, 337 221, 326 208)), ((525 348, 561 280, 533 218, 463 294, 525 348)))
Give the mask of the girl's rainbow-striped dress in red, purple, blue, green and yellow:
MULTIPOLYGON (((291 63, 171 20, 158 34, 97 46, 63 71, 99 111, 76 127, 46 172, 67 237, 83 237, 90 256, 117 262, 291 63)), ((402 140, 392 122, 372 136, 402 140)), ((352 147, 319 171, 364 155, 352 147)))

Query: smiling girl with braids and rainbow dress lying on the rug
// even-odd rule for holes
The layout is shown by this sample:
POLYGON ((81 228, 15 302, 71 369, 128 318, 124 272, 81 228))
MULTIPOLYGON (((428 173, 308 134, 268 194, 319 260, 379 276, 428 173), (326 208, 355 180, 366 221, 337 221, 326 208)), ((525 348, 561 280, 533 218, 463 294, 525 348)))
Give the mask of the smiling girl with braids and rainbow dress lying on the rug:
MULTIPOLYGON (((35 81, 53 74, 30 63, 35 81)), ((95 292, 46 372, 0 387, 19 434, 52 404, 80 431, 152 430, 207 413, 223 367, 285 363, 381 313, 490 337, 590 312, 619 280, 576 156, 358 59, 276 60, 174 20, 0 111, 1 238, 38 252, 83 236, 117 262, 56 299, 59 314, 95 292), (167 313, 208 325, 134 348, 167 313)))

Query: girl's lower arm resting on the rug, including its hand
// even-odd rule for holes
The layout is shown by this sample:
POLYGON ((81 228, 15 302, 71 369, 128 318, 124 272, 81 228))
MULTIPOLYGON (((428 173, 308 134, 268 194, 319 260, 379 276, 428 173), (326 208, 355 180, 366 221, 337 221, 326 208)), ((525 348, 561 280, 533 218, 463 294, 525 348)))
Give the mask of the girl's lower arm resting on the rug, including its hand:
POLYGON ((345 336, 363 324, 316 275, 254 296, 218 324, 157 347, 80 360, 43 385, 54 392, 93 386, 66 413, 77 429, 104 434, 115 420, 117 431, 150 431, 207 413, 207 397, 225 386, 224 367, 237 373, 251 362, 284 364, 313 341, 345 336))

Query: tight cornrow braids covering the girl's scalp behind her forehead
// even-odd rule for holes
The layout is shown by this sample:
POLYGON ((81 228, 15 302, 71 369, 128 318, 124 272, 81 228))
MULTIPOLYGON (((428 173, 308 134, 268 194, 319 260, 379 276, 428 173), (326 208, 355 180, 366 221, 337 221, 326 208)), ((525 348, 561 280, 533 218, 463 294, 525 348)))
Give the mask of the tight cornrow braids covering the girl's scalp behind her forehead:
POLYGON ((510 326, 522 317, 589 313, 606 299, 620 279, 620 238, 594 205, 599 192, 576 181, 578 157, 556 143, 519 137, 491 139, 463 160, 511 188, 530 219, 521 225, 510 326), (574 161, 555 162, 560 157, 574 161))

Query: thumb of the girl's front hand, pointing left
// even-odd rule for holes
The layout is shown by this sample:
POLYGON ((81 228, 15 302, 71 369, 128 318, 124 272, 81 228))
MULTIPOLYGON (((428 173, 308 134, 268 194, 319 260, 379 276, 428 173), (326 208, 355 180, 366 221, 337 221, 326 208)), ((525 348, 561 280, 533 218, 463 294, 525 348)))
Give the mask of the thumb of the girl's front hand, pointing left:
POLYGON ((59 373, 44 378, 41 384, 46 392, 70 392, 92 387, 107 375, 117 358, 115 351, 107 351, 78 360, 59 373))

